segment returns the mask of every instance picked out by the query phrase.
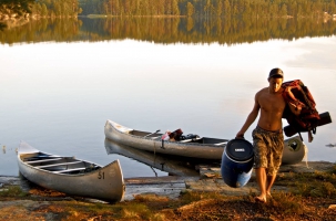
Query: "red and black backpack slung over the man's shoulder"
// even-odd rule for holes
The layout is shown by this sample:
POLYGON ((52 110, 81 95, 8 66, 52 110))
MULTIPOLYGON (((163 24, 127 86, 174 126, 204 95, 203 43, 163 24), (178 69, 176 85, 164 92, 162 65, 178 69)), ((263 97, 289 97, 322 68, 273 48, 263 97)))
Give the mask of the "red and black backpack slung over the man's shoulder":
POLYGON ((298 134, 308 131, 309 141, 312 141, 312 131, 316 134, 319 120, 313 95, 301 80, 284 82, 282 87, 284 88, 283 97, 287 103, 283 118, 286 118, 298 134))

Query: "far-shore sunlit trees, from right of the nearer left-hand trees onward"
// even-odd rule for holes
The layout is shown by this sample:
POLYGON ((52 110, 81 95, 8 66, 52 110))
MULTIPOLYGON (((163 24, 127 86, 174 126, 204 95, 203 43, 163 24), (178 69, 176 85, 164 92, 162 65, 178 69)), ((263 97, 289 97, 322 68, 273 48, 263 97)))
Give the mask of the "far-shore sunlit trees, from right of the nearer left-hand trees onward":
POLYGON ((320 17, 336 0, 79 0, 83 14, 187 17, 320 17))

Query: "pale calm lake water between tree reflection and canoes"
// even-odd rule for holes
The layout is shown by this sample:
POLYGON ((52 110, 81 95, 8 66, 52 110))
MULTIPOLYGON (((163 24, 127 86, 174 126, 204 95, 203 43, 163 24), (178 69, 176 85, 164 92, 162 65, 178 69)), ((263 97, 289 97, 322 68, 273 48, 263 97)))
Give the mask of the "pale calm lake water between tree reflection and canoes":
MULTIPOLYGON (((18 176, 20 140, 101 165, 120 159, 124 177, 159 169, 109 154, 104 124, 233 138, 267 74, 301 78, 317 109, 336 119, 336 36, 252 43, 171 43, 130 39, 0 45, 0 175, 18 176)), ((287 125, 284 122, 284 126, 287 125)), ((246 139, 252 140, 252 129, 246 139)), ((307 135, 303 134, 305 140, 307 135)), ((336 126, 317 128, 308 160, 336 161, 336 126)))

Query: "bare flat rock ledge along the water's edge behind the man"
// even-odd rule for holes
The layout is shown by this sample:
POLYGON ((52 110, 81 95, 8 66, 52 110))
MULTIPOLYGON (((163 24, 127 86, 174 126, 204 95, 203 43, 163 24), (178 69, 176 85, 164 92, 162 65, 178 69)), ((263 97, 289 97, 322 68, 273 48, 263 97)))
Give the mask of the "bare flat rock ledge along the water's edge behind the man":
MULTIPOLYGON (((312 173, 315 171, 325 172, 333 169, 336 162, 329 161, 302 161, 296 165, 283 165, 279 168, 278 176, 285 173, 312 173)), ((179 198, 183 191, 216 191, 228 196, 243 196, 250 192, 257 192, 255 173, 252 172, 248 183, 242 188, 231 188, 224 183, 221 177, 221 168, 212 166, 201 166, 200 176, 195 177, 179 177, 179 176, 162 176, 162 177, 133 177, 124 178, 125 196, 124 200, 133 200, 138 194, 157 194, 165 196, 171 199, 179 198)), ((24 191, 30 191, 31 187, 38 186, 31 183, 20 176, 0 176, 0 190, 4 186, 20 186, 24 191)), ((274 190, 285 190, 283 186, 277 186, 275 180, 274 190)))

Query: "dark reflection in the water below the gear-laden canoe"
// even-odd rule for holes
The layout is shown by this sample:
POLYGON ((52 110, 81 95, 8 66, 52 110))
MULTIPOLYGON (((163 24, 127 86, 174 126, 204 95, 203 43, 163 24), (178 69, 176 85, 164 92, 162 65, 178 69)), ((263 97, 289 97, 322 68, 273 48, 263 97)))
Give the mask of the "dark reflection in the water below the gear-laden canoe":
POLYGON ((152 168, 169 172, 172 176, 194 177, 200 176, 198 166, 202 164, 213 164, 220 166, 220 160, 200 160, 177 156, 160 155, 149 151, 143 151, 118 144, 110 139, 105 139, 105 148, 108 155, 122 155, 145 164, 152 168))

